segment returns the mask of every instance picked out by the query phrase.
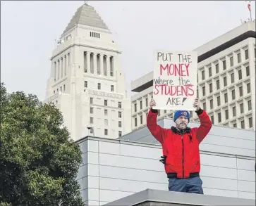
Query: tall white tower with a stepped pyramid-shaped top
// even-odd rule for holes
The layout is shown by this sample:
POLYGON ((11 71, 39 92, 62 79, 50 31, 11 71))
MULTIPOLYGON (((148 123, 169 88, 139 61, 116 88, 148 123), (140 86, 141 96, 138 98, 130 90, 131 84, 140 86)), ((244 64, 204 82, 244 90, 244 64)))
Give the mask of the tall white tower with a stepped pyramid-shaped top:
POLYGON ((130 132, 121 52, 95 9, 80 6, 56 44, 46 102, 61 110, 71 138, 89 134, 116 139, 130 132))

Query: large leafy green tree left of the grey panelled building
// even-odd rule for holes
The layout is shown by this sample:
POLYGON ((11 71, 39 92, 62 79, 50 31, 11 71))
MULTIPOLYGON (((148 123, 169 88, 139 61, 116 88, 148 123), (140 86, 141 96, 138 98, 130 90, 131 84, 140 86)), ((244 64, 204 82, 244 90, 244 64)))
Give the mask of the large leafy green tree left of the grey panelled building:
POLYGON ((0 205, 80 206, 81 151, 53 104, 1 83, 0 205))

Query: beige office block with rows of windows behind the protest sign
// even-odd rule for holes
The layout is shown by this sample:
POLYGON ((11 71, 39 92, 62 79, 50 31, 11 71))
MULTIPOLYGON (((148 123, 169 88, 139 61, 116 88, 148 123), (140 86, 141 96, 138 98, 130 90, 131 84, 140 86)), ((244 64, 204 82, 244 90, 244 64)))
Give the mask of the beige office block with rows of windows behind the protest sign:
MULTIPOLYGON (((209 41, 198 53, 197 97, 213 124, 255 130, 255 22, 209 41)), ((132 129, 144 127, 154 73, 131 82, 132 129)), ((191 114, 191 120, 199 121, 191 114)), ((173 111, 160 110, 159 119, 173 111)))

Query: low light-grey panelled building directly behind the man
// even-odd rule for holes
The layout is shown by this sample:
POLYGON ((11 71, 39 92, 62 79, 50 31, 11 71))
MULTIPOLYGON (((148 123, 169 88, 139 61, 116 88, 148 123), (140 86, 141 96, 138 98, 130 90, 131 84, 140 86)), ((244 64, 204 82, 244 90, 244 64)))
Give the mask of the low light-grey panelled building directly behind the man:
MULTIPOLYGON (((158 124, 169 128, 173 122, 165 118, 158 124)), ((77 143, 83 152, 77 179, 87 205, 104 205, 146 189, 168 191, 161 146, 147 127, 119 139, 87 136, 77 143)), ((200 144, 200 159, 205 195, 255 200, 254 131, 213 126, 200 144)))

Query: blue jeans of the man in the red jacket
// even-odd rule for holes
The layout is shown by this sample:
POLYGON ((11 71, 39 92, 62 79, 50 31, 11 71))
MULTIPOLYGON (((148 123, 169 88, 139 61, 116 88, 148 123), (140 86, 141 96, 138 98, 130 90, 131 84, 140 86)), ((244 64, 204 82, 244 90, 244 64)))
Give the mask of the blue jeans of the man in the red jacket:
POLYGON ((187 179, 169 178, 168 188, 173 192, 204 194, 200 176, 187 179))

